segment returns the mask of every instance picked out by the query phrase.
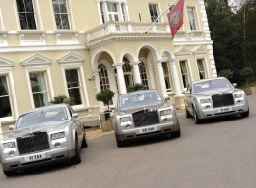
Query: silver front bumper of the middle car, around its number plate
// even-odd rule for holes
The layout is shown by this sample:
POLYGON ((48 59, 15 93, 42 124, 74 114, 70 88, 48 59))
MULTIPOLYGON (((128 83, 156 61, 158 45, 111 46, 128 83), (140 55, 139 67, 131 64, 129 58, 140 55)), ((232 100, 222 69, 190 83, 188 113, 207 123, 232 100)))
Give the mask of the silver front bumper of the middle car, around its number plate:
POLYGON ((137 140, 142 138, 152 138, 160 135, 170 134, 176 131, 179 131, 180 125, 177 121, 175 124, 173 122, 161 123, 161 124, 153 124, 148 126, 141 126, 130 128, 127 130, 122 130, 122 133, 116 133, 117 139, 120 141, 128 141, 128 140, 137 140), (152 129, 153 131, 149 131, 144 133, 142 129, 152 129))

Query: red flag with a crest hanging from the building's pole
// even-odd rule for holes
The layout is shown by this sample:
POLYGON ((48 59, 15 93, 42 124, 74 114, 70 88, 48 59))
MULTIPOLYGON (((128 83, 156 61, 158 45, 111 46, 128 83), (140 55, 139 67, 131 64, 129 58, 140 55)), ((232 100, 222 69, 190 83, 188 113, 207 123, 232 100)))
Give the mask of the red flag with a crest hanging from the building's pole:
POLYGON ((167 14, 172 38, 184 23, 184 0, 179 0, 178 3, 167 14))

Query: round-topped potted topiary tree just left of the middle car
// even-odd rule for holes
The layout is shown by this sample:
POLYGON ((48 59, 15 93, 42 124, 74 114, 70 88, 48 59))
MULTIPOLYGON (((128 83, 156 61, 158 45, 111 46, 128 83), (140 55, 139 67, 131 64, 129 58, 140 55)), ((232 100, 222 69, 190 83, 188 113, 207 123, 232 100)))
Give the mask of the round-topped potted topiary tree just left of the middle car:
POLYGON ((104 105, 107 105, 107 111, 105 111, 105 119, 106 120, 108 120, 110 118, 109 104, 114 95, 115 95, 115 93, 113 91, 111 91, 110 89, 103 89, 99 93, 97 93, 95 96, 95 98, 98 101, 103 102, 104 105))

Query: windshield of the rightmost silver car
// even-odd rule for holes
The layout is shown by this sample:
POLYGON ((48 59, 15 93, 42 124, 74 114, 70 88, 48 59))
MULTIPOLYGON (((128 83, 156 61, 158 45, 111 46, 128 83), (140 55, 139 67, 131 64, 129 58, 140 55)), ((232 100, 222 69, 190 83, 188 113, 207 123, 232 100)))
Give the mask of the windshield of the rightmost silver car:
POLYGON ((226 79, 213 79, 193 84, 194 94, 215 91, 215 90, 228 90, 232 85, 226 79))

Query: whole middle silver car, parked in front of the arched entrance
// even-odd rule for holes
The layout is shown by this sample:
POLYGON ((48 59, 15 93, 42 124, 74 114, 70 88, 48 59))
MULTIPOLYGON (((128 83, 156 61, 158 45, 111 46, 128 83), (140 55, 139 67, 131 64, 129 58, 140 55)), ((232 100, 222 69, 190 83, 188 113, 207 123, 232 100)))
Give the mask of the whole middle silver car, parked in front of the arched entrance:
POLYGON ((118 96, 114 114, 116 143, 171 134, 180 137, 180 124, 172 104, 157 90, 136 91, 118 96))

